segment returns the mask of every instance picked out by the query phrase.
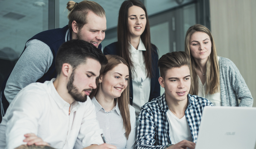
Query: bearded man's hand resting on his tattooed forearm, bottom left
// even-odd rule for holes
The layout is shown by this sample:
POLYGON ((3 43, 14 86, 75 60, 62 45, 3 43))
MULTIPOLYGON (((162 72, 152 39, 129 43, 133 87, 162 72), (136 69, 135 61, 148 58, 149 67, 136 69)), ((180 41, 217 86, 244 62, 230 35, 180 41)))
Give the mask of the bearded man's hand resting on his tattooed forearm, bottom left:
POLYGON ((27 145, 45 145, 45 146, 50 146, 47 142, 44 142, 43 139, 40 137, 37 137, 33 133, 28 133, 24 135, 26 138, 23 140, 23 142, 27 142, 27 145))

